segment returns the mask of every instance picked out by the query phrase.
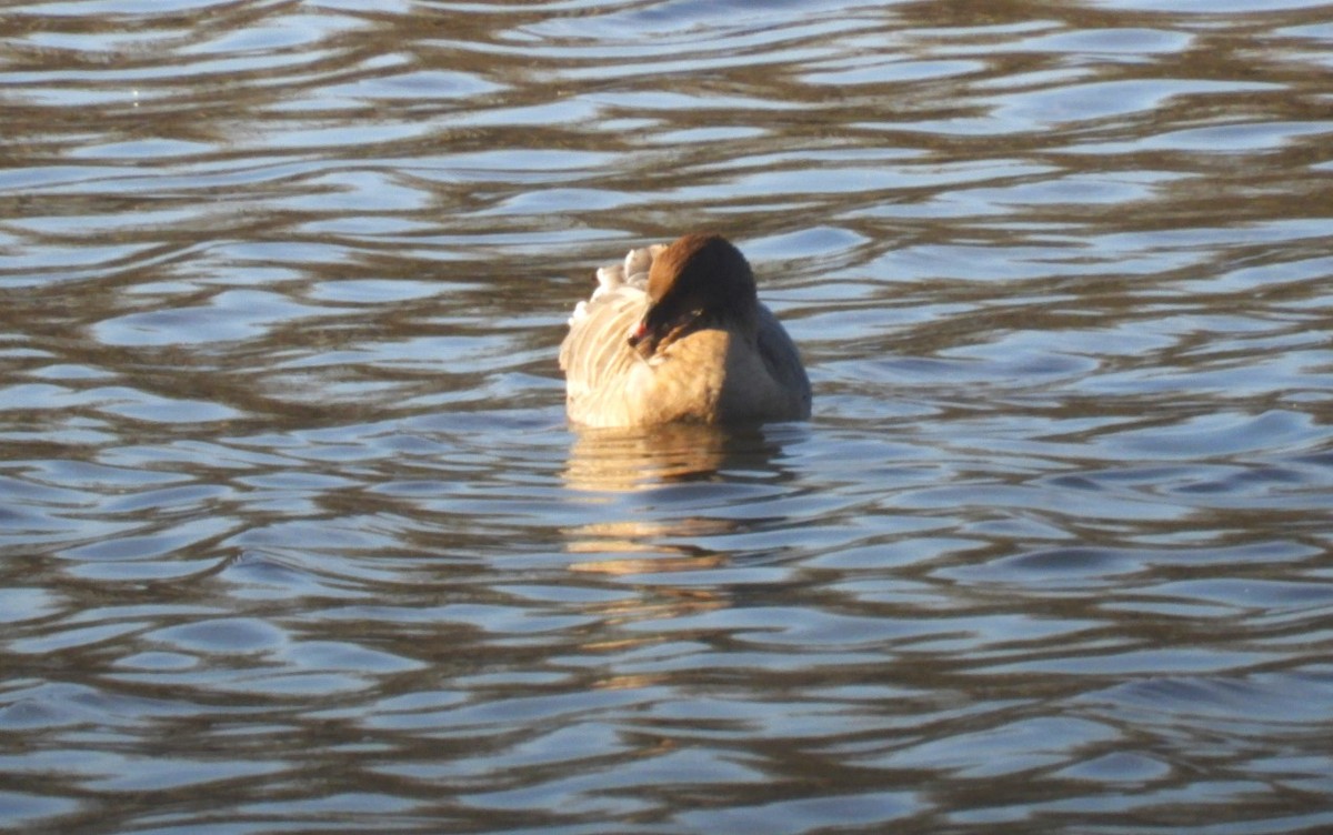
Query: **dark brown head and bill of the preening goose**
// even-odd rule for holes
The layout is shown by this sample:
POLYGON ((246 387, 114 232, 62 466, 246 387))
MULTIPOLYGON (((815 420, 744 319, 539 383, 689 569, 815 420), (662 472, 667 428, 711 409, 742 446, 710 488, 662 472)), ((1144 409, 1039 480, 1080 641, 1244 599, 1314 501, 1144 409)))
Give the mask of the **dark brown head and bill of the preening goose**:
POLYGON ((745 256, 720 234, 686 234, 648 270, 648 312, 629 334, 645 358, 698 328, 754 329, 754 274, 745 256))

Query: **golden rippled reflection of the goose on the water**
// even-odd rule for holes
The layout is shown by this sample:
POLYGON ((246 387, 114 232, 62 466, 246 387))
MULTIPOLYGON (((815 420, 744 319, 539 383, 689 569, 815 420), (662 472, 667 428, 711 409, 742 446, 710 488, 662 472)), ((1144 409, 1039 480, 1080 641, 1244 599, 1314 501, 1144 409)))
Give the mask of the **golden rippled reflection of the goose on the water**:
MULTIPOLYGON (((685 641, 696 627, 672 622, 698 623, 734 603, 734 578, 708 574, 753 555, 741 534, 773 522, 754 514, 756 497, 784 491, 789 473, 777 465, 778 438, 789 431, 801 430, 669 425, 576 435, 564 477, 584 501, 581 523, 563 530, 565 550, 577 555, 569 570, 588 585, 633 591, 587 603, 600 625, 587 634, 587 651, 619 657, 685 641), (656 626, 621 629, 633 623, 656 626)), ((608 669, 595 686, 643 689, 655 681, 608 669)))

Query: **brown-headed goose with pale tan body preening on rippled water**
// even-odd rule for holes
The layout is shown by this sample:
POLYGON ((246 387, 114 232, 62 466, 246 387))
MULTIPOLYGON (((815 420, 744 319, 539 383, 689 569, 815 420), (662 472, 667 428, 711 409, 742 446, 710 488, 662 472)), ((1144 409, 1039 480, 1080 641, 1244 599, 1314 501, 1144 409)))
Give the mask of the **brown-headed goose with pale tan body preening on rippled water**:
POLYGON ((760 304, 745 256, 716 233, 632 249, 597 270, 560 346, 569 422, 587 427, 810 417, 810 381, 760 304))

